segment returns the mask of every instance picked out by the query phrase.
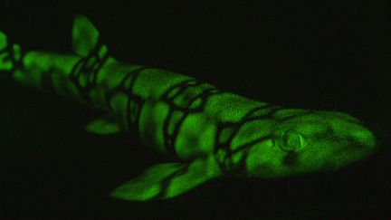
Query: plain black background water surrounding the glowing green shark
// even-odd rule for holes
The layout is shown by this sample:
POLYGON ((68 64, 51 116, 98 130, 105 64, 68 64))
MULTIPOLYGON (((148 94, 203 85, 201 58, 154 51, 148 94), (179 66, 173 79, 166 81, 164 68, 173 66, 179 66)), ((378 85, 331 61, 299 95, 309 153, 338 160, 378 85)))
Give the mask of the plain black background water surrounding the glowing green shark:
POLYGON ((70 53, 72 17, 85 14, 119 60, 279 105, 348 112, 383 148, 332 175, 219 179, 168 201, 120 201, 111 189, 169 158, 131 134, 85 132, 103 112, 0 81, 0 218, 390 218, 390 6, 2 0, 0 30, 24 50, 70 53))

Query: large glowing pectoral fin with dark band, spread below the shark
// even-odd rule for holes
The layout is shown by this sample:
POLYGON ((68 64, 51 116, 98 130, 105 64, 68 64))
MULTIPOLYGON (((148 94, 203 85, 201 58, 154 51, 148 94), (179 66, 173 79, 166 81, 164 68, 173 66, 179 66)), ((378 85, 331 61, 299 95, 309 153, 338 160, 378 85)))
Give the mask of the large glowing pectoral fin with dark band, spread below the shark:
POLYGON ((114 189, 110 196, 138 201, 167 199, 183 194, 219 174, 213 158, 196 159, 190 164, 157 164, 114 189))

